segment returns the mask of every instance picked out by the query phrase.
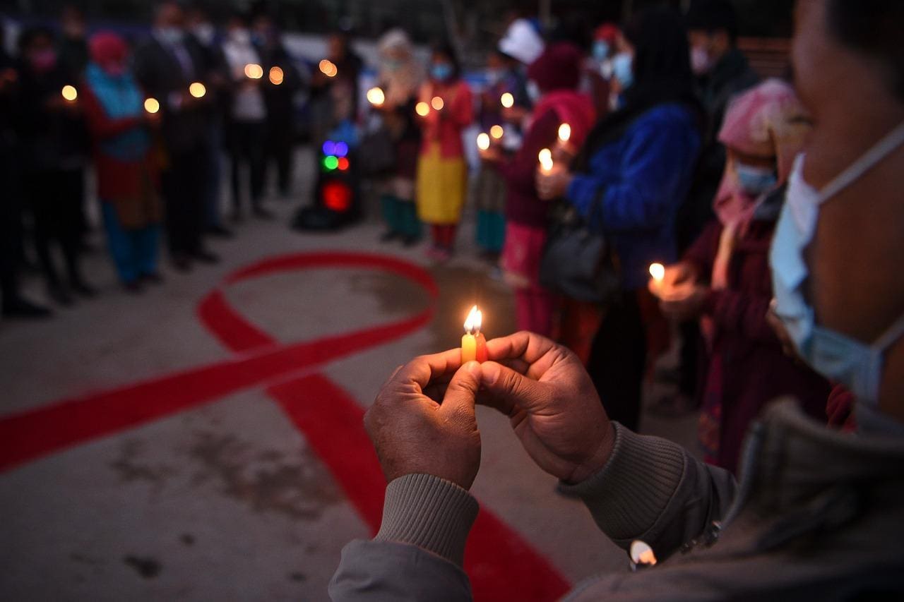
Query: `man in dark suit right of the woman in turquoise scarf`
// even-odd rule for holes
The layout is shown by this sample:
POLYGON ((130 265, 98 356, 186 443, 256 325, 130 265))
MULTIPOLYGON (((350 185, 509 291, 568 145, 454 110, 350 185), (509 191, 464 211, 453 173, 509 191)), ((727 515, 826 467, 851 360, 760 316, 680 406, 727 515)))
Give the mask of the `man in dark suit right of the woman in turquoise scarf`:
POLYGON ((136 53, 136 75, 146 93, 160 101, 165 151, 162 173, 166 232, 174 268, 186 271, 193 260, 215 263, 204 249, 205 187, 209 167, 207 103, 189 86, 204 77, 202 52, 184 32, 184 12, 172 0, 155 8, 151 39, 136 53))

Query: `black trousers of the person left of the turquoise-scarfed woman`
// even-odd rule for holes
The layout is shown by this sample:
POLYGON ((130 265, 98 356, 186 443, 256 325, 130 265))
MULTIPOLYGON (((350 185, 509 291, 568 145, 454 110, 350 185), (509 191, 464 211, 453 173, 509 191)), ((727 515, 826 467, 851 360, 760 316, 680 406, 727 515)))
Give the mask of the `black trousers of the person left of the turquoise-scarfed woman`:
POLYGON ((80 281, 81 203, 84 193, 81 170, 41 170, 25 176, 24 189, 34 219, 34 250, 49 286, 60 284, 52 258, 52 245, 59 245, 66 273, 80 281))

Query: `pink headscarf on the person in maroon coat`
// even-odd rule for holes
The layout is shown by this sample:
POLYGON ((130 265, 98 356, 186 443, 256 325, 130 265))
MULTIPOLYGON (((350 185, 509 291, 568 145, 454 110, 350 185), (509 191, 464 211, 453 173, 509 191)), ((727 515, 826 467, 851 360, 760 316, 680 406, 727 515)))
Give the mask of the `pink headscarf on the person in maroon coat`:
MULTIPOLYGON (((794 159, 804 146, 809 130, 805 115, 805 108, 790 85, 782 80, 766 80, 730 102, 719 141, 745 155, 775 157, 775 190, 786 183, 794 159)), ((743 229, 762 198, 740 190, 734 165, 726 165, 712 208, 723 225, 743 229)))

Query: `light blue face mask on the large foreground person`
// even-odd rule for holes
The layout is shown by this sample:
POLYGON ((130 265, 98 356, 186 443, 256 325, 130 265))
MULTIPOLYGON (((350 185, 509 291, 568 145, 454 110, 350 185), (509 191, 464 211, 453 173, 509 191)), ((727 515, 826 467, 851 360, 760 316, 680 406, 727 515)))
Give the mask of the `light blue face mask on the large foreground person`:
POLYGON ((860 403, 872 407, 879 403, 883 355, 904 336, 904 315, 872 344, 861 343, 816 324, 815 311, 804 294, 809 277, 804 252, 813 240, 820 205, 855 182, 901 144, 904 144, 904 123, 821 191, 804 180, 804 155, 798 155, 788 178, 785 206, 769 252, 775 291, 772 310, 785 326, 796 352, 816 372, 842 383, 860 403))

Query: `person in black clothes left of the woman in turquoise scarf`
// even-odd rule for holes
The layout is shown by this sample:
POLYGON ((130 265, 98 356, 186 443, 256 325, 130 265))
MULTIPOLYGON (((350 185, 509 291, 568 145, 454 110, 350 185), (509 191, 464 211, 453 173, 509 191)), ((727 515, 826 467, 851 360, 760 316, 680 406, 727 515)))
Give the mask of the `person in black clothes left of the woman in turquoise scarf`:
POLYGON ((80 267, 81 176, 85 132, 78 98, 63 99, 65 85, 76 86, 58 60, 52 34, 43 28, 19 36, 21 65, 14 124, 21 141, 24 195, 34 224, 34 248, 48 296, 69 306, 74 298, 94 296, 80 267), (67 281, 59 274, 53 248, 59 245, 67 281))

